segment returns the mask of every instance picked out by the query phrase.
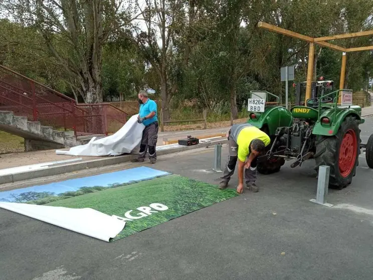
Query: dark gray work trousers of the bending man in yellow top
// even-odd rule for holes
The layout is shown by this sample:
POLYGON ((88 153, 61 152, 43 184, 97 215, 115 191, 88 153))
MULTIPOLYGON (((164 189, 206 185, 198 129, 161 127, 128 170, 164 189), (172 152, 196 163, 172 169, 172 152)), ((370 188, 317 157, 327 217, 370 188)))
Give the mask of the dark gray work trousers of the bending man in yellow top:
MULTIPOLYGON (((231 132, 231 131, 230 131, 231 132)), ((238 145, 234 141, 234 139, 230 136, 231 133, 228 135, 228 147, 229 147, 229 157, 227 165, 223 171, 223 176, 220 178, 222 179, 221 182, 229 182, 231 180, 232 175, 235 173, 236 164, 237 164, 237 156, 238 156, 238 145)), ((248 155, 249 156, 249 155, 248 155)), ((250 168, 244 169, 244 179, 246 184, 247 183, 255 183, 257 179, 257 161, 256 159, 251 163, 250 168)))

